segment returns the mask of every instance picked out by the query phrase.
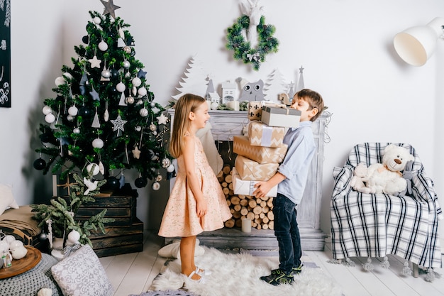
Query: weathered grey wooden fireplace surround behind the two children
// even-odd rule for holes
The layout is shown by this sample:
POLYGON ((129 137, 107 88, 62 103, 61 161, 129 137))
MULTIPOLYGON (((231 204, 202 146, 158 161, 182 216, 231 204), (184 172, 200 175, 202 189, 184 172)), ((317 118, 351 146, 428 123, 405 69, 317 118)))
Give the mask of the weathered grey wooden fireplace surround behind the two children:
MULTIPOLYGON (((174 109, 169 109, 171 122, 174 121, 174 109)), ((234 160, 235 154, 231 152, 233 136, 243 135, 245 126, 248 125, 247 111, 209 111, 211 134, 213 135, 219 153, 226 154, 228 142, 229 158, 234 160), (232 143, 231 143, 232 144, 232 143), (221 150, 224 149, 224 151, 221 150)), ((326 124, 330 114, 325 113, 313 122, 313 136, 317 153, 314 155, 306 189, 301 204, 298 205, 298 224, 301 234, 302 248, 306 251, 323 251, 326 234, 320 229, 320 212, 322 199, 322 173, 323 173, 323 148, 326 135, 326 124)), ((223 157, 224 158, 224 157, 223 157)), ((226 163, 226 159, 224 159, 226 163)), ((170 189, 174 185, 174 178, 170 180, 170 189)), ((249 251, 250 253, 266 253, 277 251, 277 240, 271 229, 252 229, 250 233, 242 232, 239 227, 223 228, 217 231, 199 234, 199 241, 204 246, 210 246, 225 250, 249 251)), ((169 242, 168 240, 166 241, 169 242)))

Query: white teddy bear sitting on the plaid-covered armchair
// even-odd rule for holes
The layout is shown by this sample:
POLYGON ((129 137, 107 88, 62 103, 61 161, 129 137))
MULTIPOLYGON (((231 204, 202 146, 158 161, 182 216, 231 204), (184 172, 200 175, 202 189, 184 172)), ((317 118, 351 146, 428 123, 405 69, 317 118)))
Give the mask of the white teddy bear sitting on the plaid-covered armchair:
POLYGON ((357 191, 398 195, 407 187, 401 171, 409 160, 414 160, 414 156, 406 148, 390 144, 384 149, 382 163, 367 168, 367 174, 362 178, 365 187, 357 188, 357 191))

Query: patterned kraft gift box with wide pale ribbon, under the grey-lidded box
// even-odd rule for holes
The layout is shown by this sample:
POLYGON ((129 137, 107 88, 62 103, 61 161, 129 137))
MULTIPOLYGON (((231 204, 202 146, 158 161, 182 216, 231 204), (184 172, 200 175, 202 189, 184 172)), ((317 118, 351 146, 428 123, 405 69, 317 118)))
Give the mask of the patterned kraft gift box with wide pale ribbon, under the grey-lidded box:
POLYGON ((250 121, 248 139, 252 146, 280 147, 285 136, 285 128, 268 126, 262 121, 250 121))

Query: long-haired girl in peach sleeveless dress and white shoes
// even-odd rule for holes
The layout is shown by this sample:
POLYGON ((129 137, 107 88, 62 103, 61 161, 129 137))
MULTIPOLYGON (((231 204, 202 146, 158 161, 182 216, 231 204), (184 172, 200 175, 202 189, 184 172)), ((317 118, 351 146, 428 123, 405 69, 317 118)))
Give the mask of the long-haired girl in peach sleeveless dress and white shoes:
POLYGON ((202 97, 184 94, 174 109, 170 153, 177 158, 178 172, 159 235, 182 237, 182 273, 191 280, 201 281, 205 270, 194 264, 196 235, 223 228, 223 222, 231 218, 231 212, 202 144, 196 137, 196 131, 204 128, 210 118, 208 104, 202 97))

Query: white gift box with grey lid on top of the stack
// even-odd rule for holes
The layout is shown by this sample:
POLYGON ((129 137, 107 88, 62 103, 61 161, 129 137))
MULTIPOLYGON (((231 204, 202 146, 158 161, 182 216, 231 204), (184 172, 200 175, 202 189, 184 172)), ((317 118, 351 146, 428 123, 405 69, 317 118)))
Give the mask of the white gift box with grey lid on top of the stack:
POLYGON ((296 128, 299 126, 300 118, 301 111, 296 109, 262 106, 262 116, 260 120, 269 126, 296 128))

